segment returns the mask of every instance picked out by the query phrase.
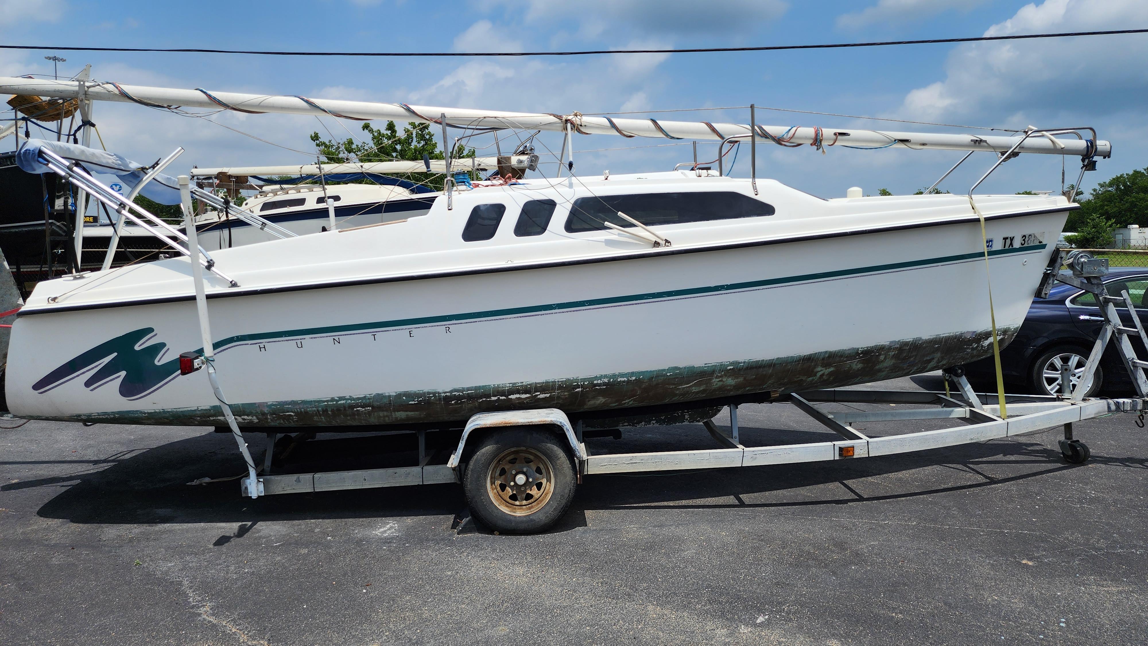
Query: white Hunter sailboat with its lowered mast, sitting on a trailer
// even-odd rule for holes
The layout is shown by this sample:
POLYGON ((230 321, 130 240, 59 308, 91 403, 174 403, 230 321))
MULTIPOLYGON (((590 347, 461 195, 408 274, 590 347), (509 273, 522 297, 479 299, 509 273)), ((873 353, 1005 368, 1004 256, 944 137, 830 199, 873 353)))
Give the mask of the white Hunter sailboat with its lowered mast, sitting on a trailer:
MULTIPOLYGON (((33 83, 41 95, 76 91, 0 79, 33 83)), ((124 100, 107 85, 86 92, 124 100)), ((194 94, 131 88, 185 106, 194 94)), ((217 99, 264 111, 281 102, 217 99)), ((334 103, 325 109, 394 111, 334 103)), ((444 126, 459 112, 401 110, 440 114, 444 126)), ((831 143, 821 129, 482 115, 455 123, 831 143)), ((1110 150, 1094 135, 1054 133, 832 133, 845 135, 1086 162, 1110 150)), ((977 196, 975 207, 952 195, 821 200, 712 170, 450 187, 417 217, 215 251, 205 278, 215 367, 245 427, 452 425, 538 407, 643 414, 915 374, 991 351, 986 239, 1001 241, 987 262, 1007 342, 1077 208, 1014 195, 977 196), (912 306, 890 316, 907 294, 912 306)), ((208 384, 179 369, 180 353, 202 350, 188 267, 177 257, 38 286, 13 328, 13 412, 220 423, 208 384)))

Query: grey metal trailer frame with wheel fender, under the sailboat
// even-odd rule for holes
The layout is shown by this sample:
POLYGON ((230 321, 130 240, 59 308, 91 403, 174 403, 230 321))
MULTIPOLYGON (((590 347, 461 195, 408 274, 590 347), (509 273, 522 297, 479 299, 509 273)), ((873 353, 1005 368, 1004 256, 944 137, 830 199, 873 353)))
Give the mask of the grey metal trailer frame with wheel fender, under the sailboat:
MULTIPOLYGON (((982 404, 979 397, 968 386, 963 375, 946 374, 946 379, 961 386, 974 399, 961 400, 952 395, 936 391, 912 390, 813 390, 781 395, 774 403, 788 403, 801 410, 839 439, 745 446, 740 443, 736 404, 729 406, 730 426, 722 429, 706 420, 703 426, 715 442, 713 449, 685 451, 652 451, 634 453, 595 454, 582 437, 581 423, 560 423, 554 408, 513 411, 507 413, 480 413, 467 423, 467 430, 447 464, 429 464, 433 454, 426 450, 426 430, 414 433, 419 438, 418 465, 380 469, 357 469, 315 472, 301 474, 271 474, 272 451, 279 434, 267 434, 264 453, 264 473, 259 477, 263 493, 297 493, 336 491, 346 489, 370 489, 417 484, 442 484, 461 482, 466 468, 464 460, 467 441, 483 429, 509 426, 545 425, 556 429, 556 436, 567 439, 572 457, 577 466, 579 480, 585 475, 642 473, 681 469, 709 469, 817 462, 858 458, 877 458, 956 446, 974 442, 1000 439, 1055 427, 1065 428, 1065 438, 1079 442, 1072 436, 1071 425, 1112 413, 1142 413, 1148 410, 1148 399, 1142 398, 1089 398, 1072 400, 1065 396, 1009 395, 1008 419, 999 417, 999 406, 982 404), (1018 402, 1023 399, 1023 402, 1018 402), (828 412, 819 404, 891 404, 883 411, 828 412), (898 408, 898 405, 913 405, 898 408), (925 405, 928 407, 920 407, 925 405), (937 428, 909 434, 870 435, 858 430, 856 422, 882 422, 902 420, 960 420, 964 426, 937 428), (565 427, 565 428, 564 428, 565 427), (571 435, 567 429, 574 429, 571 435)), ((394 433, 394 431, 393 431, 394 433)), ((398 431, 403 433, 403 431, 398 431)), ((1062 450, 1063 451, 1063 450, 1062 450)), ((1072 460, 1071 452, 1064 452, 1072 460)))

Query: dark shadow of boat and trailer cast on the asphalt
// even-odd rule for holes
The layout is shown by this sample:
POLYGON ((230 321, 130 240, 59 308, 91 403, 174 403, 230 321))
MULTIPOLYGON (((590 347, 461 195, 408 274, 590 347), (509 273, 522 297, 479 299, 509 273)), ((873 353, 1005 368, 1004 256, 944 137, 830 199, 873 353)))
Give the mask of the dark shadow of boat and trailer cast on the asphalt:
MULTIPOLYGON (((641 450, 689 450, 705 445, 703 439, 707 436, 704 430, 699 433, 700 428, 682 425, 634 429, 626 439, 595 438, 588 444, 595 453, 629 451, 639 445, 641 450)), ((746 445, 831 437, 788 429, 742 429, 746 445)), ((262 453, 258 439, 248 439, 258 460, 262 453)), ((585 526, 588 511, 848 505, 996 487, 1076 468, 1046 445, 1049 442, 1055 445, 1055 438, 1015 437, 859 460, 591 475, 580 487, 566 521, 552 531, 585 526), (859 481, 863 484, 858 484, 859 481)), ((1106 458, 1094 456, 1093 460, 1103 462, 1106 458)), ((457 484, 293 493, 258 500, 240 497, 238 480, 189 485, 204 476, 240 474, 242 462, 226 434, 205 433, 99 460, 67 464, 77 468, 57 476, 7 483, 0 485, 0 491, 68 487, 44 504, 38 515, 75 523, 245 523, 234 536, 220 537, 224 543, 241 537, 256 522, 273 520, 444 515, 453 517, 451 529, 460 534, 467 529, 459 528, 467 514, 457 484)))

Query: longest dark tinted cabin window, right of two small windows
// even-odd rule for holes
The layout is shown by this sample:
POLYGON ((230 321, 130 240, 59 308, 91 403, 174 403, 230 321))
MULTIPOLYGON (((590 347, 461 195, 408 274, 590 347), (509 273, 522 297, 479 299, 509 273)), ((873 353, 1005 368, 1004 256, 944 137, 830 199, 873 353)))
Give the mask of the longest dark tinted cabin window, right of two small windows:
POLYGON ((618 217, 618 211, 646 226, 703 223, 774 215, 771 204, 734 192, 643 193, 579 197, 566 218, 566 231, 603 231, 605 223, 621 227, 634 225, 618 217))

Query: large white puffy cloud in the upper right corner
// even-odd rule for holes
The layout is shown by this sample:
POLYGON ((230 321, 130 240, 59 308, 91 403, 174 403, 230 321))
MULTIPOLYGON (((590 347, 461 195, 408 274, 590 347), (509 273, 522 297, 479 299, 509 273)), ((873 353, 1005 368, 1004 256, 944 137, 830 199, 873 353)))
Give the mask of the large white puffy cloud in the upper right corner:
MULTIPOLYGON (((1143 0, 1046 0, 1022 7, 988 36, 1100 31, 1148 24, 1143 0)), ((946 78, 913 89, 901 114, 924 120, 1013 115, 1014 124, 1142 110, 1148 37, 976 42, 949 55, 946 78)), ((995 120, 995 119, 994 119, 995 120)), ((1037 123, 1037 122, 1033 122, 1037 123)), ((1075 124, 1073 124, 1075 125, 1075 124)))

